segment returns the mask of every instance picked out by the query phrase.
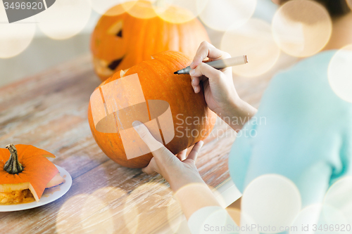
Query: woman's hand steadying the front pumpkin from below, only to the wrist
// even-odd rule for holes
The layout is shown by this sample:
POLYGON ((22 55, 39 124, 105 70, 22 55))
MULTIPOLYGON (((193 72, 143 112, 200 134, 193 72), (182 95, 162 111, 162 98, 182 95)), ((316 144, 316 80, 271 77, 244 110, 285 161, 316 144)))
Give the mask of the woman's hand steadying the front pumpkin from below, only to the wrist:
POLYGON ((170 188, 174 192, 189 183, 204 183, 195 164, 203 141, 194 145, 188 157, 186 157, 187 149, 175 157, 162 143, 156 141, 144 124, 135 121, 133 126, 153 154, 151 162, 142 171, 147 174, 155 172, 161 174, 170 183, 170 188))

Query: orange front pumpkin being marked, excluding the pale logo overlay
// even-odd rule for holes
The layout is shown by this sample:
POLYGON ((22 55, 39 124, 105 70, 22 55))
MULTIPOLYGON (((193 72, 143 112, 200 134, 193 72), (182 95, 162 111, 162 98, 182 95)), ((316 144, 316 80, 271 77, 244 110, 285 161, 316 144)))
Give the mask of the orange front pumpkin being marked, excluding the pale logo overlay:
MULTIPOLYGON (((100 97, 105 86, 118 83, 118 79, 127 76, 132 77, 132 75, 137 74, 145 100, 163 100, 170 105, 170 112, 173 121, 172 127, 175 131, 175 137, 172 138, 169 143, 165 141, 165 146, 172 153, 177 154, 189 146, 194 145, 194 143, 206 138, 213 129, 216 119, 215 114, 211 112, 206 105, 203 91, 194 93, 189 75, 173 74, 175 71, 189 65, 190 62, 189 58, 180 52, 165 51, 157 53, 156 55, 153 55, 153 58, 139 63, 138 65, 134 65, 127 70, 127 72, 123 72, 122 70, 116 72, 113 77, 103 82, 94 92, 100 97)), ((132 93, 134 93, 134 91, 132 91, 132 93)), ((94 116, 92 115, 92 105, 94 106, 94 103, 96 102, 92 99, 93 94, 89 102, 88 119, 92 134, 101 150, 103 150, 103 152, 105 152, 105 154, 113 161, 124 167, 146 167, 149 164, 151 157, 153 157, 150 152, 140 157, 127 159, 124 145, 122 145, 120 131, 117 131, 116 133, 107 133, 97 130, 96 126, 98 125, 94 124, 94 116), (92 104, 92 102, 94 103, 92 104)), ((119 101, 125 101, 123 100, 125 96, 122 94, 115 93, 114 95, 120 96, 120 100, 115 100, 116 105, 120 105, 119 101)), ((103 105, 105 109, 101 112, 107 113, 105 116, 114 115, 113 118, 115 117, 115 120, 113 121, 113 128, 120 129, 118 126, 120 118, 116 117, 119 114, 117 112, 111 113, 107 108, 108 102, 110 101, 111 100, 108 100, 106 96, 104 96, 101 105, 103 105)), ((94 110, 94 112, 95 111, 96 110, 94 110)), ((149 111, 151 112, 150 106, 149 111)), ((148 114, 146 115, 148 116, 148 114)), ((128 115, 126 118, 130 126, 134 120, 139 120, 145 123, 153 119, 151 114, 149 114, 149 119, 144 120, 136 119, 135 115, 128 115)))

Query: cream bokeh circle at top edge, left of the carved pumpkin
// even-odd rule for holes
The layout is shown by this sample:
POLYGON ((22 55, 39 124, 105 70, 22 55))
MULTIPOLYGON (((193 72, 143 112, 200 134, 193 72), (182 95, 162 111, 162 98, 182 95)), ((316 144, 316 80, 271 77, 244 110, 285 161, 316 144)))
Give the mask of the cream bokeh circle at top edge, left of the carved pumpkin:
POLYGON ((92 8, 88 0, 56 0, 46 11, 35 15, 39 29, 52 39, 68 39, 87 24, 92 8))

